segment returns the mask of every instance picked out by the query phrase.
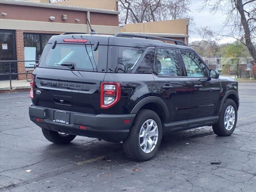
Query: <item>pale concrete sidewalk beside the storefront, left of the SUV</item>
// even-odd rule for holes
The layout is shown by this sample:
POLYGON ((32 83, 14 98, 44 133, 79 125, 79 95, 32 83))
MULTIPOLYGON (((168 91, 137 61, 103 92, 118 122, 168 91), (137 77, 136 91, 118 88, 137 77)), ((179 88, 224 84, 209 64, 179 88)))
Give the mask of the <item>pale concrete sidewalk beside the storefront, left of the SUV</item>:
MULTIPOLYGON (((29 89, 29 82, 26 80, 12 80, 12 89, 29 89)), ((0 81, 0 91, 11 90, 10 81, 0 81)))

